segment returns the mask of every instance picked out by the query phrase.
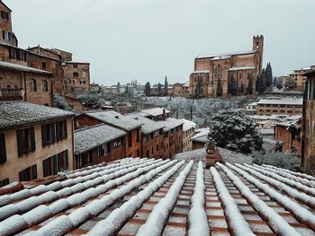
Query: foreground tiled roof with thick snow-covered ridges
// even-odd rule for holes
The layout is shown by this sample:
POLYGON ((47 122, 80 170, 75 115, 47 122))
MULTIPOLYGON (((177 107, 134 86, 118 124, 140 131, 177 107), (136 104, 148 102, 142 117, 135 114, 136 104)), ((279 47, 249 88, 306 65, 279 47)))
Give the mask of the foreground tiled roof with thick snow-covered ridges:
POLYGON ((0 234, 314 235, 314 183, 272 166, 124 159, 1 196, 0 234))

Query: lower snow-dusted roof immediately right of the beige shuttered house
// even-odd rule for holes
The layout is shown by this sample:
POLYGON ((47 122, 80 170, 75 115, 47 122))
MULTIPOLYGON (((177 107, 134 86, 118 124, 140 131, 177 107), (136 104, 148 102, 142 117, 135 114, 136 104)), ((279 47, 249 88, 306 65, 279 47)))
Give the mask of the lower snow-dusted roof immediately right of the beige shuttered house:
POLYGON ((75 154, 85 153, 126 134, 121 129, 107 125, 78 129, 74 133, 75 154))

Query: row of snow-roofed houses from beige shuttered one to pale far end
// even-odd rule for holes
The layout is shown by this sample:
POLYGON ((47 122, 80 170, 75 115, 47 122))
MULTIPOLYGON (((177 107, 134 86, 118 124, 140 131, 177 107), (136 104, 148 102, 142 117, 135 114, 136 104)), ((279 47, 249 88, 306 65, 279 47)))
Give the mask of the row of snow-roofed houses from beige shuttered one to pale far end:
POLYGON ((75 114, 25 101, 0 102, 0 187, 126 157, 170 159, 194 123, 166 109, 75 114))

